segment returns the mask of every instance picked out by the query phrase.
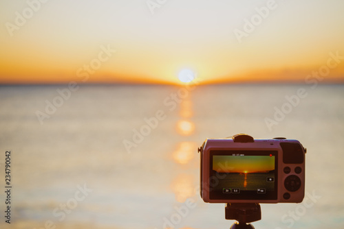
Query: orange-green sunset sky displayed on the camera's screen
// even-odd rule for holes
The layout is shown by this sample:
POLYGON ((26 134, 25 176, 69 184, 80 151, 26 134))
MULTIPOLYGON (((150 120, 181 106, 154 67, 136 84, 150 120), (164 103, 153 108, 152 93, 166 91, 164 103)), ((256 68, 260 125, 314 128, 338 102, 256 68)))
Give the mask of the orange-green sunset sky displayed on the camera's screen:
POLYGON ((275 169, 275 156, 213 156, 218 173, 257 173, 275 169))

